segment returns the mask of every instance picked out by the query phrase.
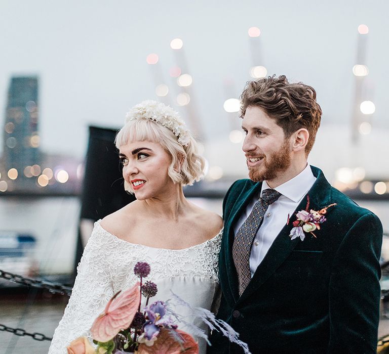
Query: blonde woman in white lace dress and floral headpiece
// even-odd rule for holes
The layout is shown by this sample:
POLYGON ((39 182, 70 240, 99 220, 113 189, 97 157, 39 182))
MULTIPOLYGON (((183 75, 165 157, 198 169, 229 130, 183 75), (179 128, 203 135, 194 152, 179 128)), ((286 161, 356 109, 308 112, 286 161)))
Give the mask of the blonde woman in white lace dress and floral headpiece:
MULTIPOLYGON (((112 295, 137 282, 133 269, 138 261, 150 264, 147 280, 158 285, 153 301, 166 301, 173 291, 192 306, 212 309, 217 298, 222 219, 182 192, 182 186, 201 179, 204 159, 178 113, 144 101, 127 113, 115 143, 125 189, 137 200, 95 223, 51 354, 66 353, 77 337, 90 338, 93 321, 112 295)), ((190 322, 185 308, 176 312, 190 322)), ((205 353, 204 340, 199 339, 199 347, 205 353)))

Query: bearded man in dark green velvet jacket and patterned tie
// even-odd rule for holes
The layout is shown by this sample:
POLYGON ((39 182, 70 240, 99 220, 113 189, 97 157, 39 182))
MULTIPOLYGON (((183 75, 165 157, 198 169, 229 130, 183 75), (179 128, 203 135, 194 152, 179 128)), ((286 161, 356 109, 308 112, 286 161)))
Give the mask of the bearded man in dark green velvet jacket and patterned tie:
MULTIPOLYGON (((315 90, 273 76, 241 98, 250 179, 223 202, 217 317, 252 353, 374 353, 382 227, 307 164, 315 90)), ((243 353, 219 332, 211 342, 209 353, 243 353)))

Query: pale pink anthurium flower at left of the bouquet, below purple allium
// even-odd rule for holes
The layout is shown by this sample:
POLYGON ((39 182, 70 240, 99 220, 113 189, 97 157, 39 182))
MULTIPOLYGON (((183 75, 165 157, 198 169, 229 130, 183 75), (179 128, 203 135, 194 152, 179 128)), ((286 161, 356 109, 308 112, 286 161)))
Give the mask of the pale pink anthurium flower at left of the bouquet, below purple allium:
POLYGON ((139 283, 132 288, 116 293, 105 306, 102 313, 93 323, 91 334, 99 342, 107 342, 121 329, 128 328, 138 311, 140 302, 139 283))

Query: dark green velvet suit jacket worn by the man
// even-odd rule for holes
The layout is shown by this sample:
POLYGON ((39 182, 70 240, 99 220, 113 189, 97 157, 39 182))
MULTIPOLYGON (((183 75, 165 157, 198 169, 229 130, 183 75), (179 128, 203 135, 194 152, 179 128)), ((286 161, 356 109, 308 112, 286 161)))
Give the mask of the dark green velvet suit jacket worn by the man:
MULTIPOLYGON (((234 225, 261 183, 236 181, 223 202, 217 317, 240 333, 252 353, 374 353, 380 300, 382 226, 376 215, 332 188, 323 172, 308 191, 309 209, 337 203, 304 241, 289 237, 290 216, 241 297, 232 259, 234 225)), ((296 212, 306 207, 304 197, 296 212)), ((219 332, 208 353, 243 353, 219 332)))

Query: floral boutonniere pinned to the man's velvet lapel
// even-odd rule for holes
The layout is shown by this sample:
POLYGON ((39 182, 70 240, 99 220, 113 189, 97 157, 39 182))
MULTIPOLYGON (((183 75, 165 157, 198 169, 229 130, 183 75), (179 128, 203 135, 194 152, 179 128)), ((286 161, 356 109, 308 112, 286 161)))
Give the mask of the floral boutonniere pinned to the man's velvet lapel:
MULTIPOLYGON (((289 237, 291 240, 299 237, 301 241, 305 239, 305 233, 312 234, 315 238, 314 234, 315 230, 320 230, 320 224, 323 224, 327 219, 324 216, 327 213, 327 209, 331 206, 336 205, 336 203, 327 205, 326 207, 320 209, 319 211, 309 209, 309 196, 306 196, 306 208, 305 210, 300 210, 296 213, 296 218, 293 222, 293 228, 290 231, 289 237), (309 211, 308 211, 309 210, 309 211)), ((289 224, 289 217, 287 225, 289 224)))

